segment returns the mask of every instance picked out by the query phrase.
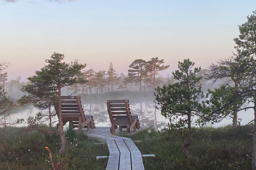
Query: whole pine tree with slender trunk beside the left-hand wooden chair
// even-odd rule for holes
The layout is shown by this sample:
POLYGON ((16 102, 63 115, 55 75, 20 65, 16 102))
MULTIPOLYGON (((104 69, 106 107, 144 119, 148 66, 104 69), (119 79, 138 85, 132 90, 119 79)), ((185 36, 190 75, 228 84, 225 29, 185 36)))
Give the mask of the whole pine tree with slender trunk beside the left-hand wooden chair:
MULTIPOLYGON (((74 83, 84 82, 84 79, 78 78, 82 75, 81 70, 86 64, 78 63, 77 60, 71 64, 62 62, 64 54, 54 52, 50 59, 46 59, 47 65, 36 71, 36 75, 29 77, 30 83, 22 87, 23 92, 28 95, 22 97, 23 102, 34 102, 36 104, 46 104, 48 101, 55 100, 58 107, 56 111, 59 118, 59 129, 61 139, 61 148, 59 153, 63 154, 66 148, 66 138, 63 131, 61 117, 61 88, 70 86, 74 83)), ((50 102, 51 103, 51 102, 50 102)))

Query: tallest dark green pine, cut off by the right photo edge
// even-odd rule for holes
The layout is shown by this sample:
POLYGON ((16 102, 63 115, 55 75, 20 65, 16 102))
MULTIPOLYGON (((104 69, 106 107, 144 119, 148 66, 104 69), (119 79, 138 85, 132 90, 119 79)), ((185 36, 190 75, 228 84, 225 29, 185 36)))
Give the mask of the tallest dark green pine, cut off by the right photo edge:
POLYGON ((252 169, 256 169, 256 11, 247 16, 247 21, 238 25, 239 36, 234 38, 235 49, 241 57, 241 63, 246 63, 250 69, 246 73, 243 85, 246 87, 247 101, 254 104, 254 137, 252 150, 252 169))

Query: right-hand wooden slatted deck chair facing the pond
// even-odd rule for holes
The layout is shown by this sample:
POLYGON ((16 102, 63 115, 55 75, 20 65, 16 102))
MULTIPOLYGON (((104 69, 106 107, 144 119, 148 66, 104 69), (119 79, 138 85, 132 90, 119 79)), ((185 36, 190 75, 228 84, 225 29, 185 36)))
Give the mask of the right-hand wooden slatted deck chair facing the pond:
POLYGON ((108 100, 107 108, 112 124, 110 133, 115 134, 117 126, 119 126, 119 131, 127 128, 127 133, 130 133, 132 129, 136 131, 136 128, 140 128, 138 116, 131 115, 129 100, 108 100))

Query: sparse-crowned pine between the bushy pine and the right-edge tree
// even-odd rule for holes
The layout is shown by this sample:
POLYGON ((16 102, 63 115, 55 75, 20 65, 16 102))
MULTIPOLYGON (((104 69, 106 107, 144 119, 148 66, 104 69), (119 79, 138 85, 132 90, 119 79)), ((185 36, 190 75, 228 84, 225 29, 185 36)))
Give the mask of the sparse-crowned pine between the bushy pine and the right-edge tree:
POLYGON ((241 82, 246 79, 246 74, 248 69, 249 69, 249 65, 243 61, 243 57, 239 55, 234 55, 229 58, 220 59, 216 64, 212 63, 210 66, 208 66, 208 72, 204 74, 205 80, 213 80, 212 85, 218 79, 221 79, 224 77, 230 77, 231 80, 234 82, 234 88, 231 88, 231 87, 224 88, 225 86, 222 86, 219 89, 215 89, 216 91, 218 91, 216 93, 209 90, 209 92, 213 95, 211 100, 216 101, 217 99, 219 99, 218 102, 216 101, 213 104, 219 105, 221 103, 222 105, 222 107, 219 107, 217 105, 211 107, 212 109, 217 109, 217 110, 212 110, 212 113, 213 114, 219 113, 218 115, 219 118, 221 118, 221 115, 223 116, 222 118, 226 116, 231 116, 233 119, 233 126, 232 126, 233 128, 237 128, 237 112, 241 110, 241 102, 245 102, 245 100, 243 99, 243 97, 245 96, 241 95, 244 89, 241 82), (232 95, 231 94, 230 95, 234 100, 230 100, 230 101, 222 100, 222 97, 219 96, 220 94, 223 94, 224 95, 223 97, 225 98, 227 97, 225 96, 225 94, 230 92, 233 93, 232 95), (230 103, 232 101, 234 103, 230 103), (232 105, 232 108, 230 108, 230 111, 226 110, 231 105, 232 105), (224 109, 224 110, 221 111, 220 109, 224 109))

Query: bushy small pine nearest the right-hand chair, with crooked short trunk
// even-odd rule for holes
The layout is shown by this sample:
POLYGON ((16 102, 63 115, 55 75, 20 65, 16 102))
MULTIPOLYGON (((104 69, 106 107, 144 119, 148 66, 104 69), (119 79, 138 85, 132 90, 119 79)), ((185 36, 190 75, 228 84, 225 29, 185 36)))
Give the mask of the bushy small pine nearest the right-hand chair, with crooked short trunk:
POLYGON ((178 70, 172 73, 179 82, 164 85, 163 88, 157 87, 154 93, 156 108, 178 130, 183 141, 182 149, 187 157, 191 157, 187 148, 192 144, 192 125, 197 123, 203 108, 199 99, 204 98, 200 85, 202 77, 196 76, 201 67, 192 69, 194 64, 189 59, 179 61, 178 70))

